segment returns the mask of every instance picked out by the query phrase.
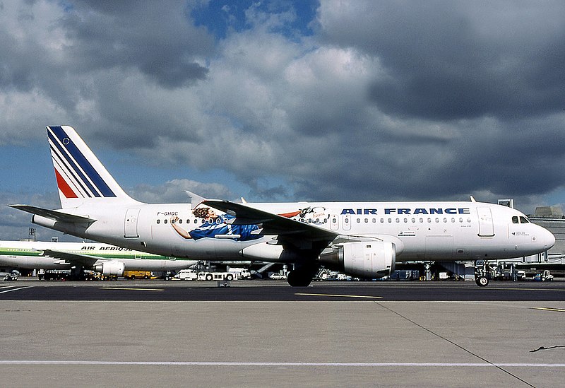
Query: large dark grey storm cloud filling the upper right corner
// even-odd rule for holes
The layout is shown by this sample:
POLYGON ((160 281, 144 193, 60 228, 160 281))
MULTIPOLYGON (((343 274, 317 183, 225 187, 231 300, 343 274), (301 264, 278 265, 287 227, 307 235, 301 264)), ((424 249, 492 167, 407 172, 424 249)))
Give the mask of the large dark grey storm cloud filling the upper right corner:
POLYGON ((564 3, 370 3, 342 18, 324 13, 321 30, 326 42, 379 57, 386 75, 369 97, 384 112, 469 119, 565 106, 564 3))

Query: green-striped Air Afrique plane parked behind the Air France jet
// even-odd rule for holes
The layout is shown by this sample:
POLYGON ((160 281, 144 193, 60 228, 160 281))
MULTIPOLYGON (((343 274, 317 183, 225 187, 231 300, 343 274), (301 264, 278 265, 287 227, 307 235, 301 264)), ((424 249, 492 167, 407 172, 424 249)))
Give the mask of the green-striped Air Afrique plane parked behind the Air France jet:
POLYGON ((104 275, 124 271, 178 271, 198 261, 165 257, 100 242, 0 241, 0 266, 24 269, 92 269, 104 275))

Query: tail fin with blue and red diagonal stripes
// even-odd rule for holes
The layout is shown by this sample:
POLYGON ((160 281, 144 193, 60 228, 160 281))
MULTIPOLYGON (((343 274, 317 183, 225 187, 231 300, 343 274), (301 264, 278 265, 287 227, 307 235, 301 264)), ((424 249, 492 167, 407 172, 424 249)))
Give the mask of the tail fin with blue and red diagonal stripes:
POLYGON ((61 208, 137 202, 78 136, 73 127, 47 127, 61 208))

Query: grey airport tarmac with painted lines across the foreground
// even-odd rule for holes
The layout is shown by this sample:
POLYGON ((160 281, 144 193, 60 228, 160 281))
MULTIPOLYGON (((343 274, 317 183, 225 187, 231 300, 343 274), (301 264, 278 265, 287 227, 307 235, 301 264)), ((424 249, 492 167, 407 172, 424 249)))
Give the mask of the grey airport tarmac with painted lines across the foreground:
POLYGON ((187 283, 1 283, 3 385, 565 382, 565 282, 187 283))

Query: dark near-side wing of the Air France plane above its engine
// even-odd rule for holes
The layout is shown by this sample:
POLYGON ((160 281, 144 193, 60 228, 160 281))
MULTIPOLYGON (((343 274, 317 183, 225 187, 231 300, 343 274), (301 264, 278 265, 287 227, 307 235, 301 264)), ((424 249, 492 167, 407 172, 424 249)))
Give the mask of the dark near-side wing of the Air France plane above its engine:
POLYGON ((260 225, 264 235, 278 235, 278 240, 292 241, 327 241, 330 242, 338 237, 338 233, 320 228, 319 226, 301 223, 290 218, 258 210, 244 204, 236 204, 230 201, 206 200, 202 202, 212 208, 235 216, 234 225, 260 225))

